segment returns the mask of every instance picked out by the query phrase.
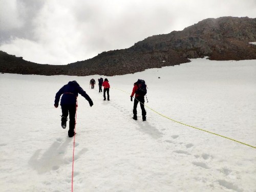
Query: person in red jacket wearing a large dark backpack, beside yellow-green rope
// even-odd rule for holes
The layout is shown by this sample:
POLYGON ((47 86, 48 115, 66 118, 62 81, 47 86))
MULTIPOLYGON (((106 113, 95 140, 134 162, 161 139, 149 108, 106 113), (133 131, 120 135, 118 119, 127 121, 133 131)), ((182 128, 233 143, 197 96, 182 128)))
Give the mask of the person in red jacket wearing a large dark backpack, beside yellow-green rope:
POLYGON ((137 120, 137 105, 140 102, 140 108, 142 112, 142 120, 146 120, 146 110, 145 110, 145 99, 144 96, 146 95, 146 84, 145 81, 142 79, 138 79, 137 82, 134 83, 133 92, 131 94, 131 101, 133 101, 133 96, 135 94, 134 105, 133 105, 133 119, 137 120))

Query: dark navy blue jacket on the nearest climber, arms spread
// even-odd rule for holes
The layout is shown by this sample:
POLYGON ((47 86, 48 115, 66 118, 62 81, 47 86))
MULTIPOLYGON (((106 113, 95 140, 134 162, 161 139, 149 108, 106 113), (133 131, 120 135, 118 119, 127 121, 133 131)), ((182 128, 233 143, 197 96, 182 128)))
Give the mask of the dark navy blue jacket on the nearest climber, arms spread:
MULTIPOLYGON (((89 101, 89 103, 92 103, 92 99, 87 95, 85 91, 79 86, 79 84, 76 81, 69 81, 68 84, 63 86, 55 96, 55 105, 59 104, 59 98, 61 97, 60 105, 66 105, 66 104, 76 104, 76 98, 78 96, 78 93, 82 95, 86 100, 89 101)), ((91 105, 91 104, 90 104, 91 105)))

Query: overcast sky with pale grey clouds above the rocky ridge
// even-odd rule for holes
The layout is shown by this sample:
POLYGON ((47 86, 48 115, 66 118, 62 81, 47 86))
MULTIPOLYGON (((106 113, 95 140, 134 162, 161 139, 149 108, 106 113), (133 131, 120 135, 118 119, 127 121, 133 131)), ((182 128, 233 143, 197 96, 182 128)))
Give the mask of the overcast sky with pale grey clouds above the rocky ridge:
POLYGON ((0 0, 0 50, 66 65, 205 18, 256 17, 256 0, 0 0))

